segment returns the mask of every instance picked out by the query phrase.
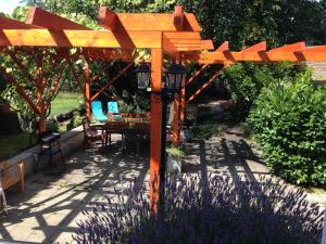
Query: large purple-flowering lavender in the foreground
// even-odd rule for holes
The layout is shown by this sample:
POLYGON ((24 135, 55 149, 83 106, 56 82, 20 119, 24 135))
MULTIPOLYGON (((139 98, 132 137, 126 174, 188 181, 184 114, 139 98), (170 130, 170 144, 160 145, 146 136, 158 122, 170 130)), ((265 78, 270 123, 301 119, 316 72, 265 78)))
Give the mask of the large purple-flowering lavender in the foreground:
POLYGON ((321 242, 323 213, 309 204, 302 190, 262 178, 233 180, 223 176, 170 178, 164 207, 149 211, 149 197, 140 182, 116 191, 85 210, 74 235, 78 244, 93 243, 216 243, 314 244, 321 242), (127 201, 125 198, 127 197, 127 201))

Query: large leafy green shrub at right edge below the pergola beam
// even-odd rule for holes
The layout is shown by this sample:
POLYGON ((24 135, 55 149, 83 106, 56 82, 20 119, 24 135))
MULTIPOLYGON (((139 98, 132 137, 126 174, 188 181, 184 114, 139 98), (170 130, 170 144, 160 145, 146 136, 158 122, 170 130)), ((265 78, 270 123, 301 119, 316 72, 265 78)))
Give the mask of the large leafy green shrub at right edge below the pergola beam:
POLYGON ((326 187, 326 88, 316 86, 310 72, 264 89, 249 121, 276 174, 326 187))

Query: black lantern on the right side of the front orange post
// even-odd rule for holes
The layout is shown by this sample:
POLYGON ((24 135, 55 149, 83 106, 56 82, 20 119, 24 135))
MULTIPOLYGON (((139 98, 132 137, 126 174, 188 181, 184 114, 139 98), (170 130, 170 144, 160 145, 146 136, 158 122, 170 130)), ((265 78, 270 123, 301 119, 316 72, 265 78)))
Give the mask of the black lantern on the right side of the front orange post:
POLYGON ((187 68, 173 62, 165 72, 165 89, 170 92, 179 92, 185 87, 187 68))

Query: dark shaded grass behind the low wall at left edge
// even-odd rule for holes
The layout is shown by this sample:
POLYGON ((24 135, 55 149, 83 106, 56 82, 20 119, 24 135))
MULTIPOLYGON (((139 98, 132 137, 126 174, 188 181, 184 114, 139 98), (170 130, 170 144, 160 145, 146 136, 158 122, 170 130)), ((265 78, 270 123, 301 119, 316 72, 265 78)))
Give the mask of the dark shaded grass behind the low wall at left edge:
POLYGON ((18 154, 29 145, 29 133, 0 137, 0 160, 18 154))

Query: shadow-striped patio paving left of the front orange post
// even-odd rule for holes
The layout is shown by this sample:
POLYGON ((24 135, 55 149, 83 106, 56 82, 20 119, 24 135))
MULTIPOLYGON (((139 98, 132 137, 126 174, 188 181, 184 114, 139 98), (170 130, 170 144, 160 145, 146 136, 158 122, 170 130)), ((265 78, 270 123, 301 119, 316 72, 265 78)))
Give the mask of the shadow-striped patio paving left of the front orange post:
POLYGON ((26 181, 23 193, 8 193, 7 217, 0 218, 0 239, 65 243, 72 241, 82 210, 103 195, 116 196, 114 189, 126 188, 136 177, 142 182, 148 171, 148 149, 140 156, 112 149, 76 152, 61 176, 38 174, 26 181))

